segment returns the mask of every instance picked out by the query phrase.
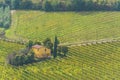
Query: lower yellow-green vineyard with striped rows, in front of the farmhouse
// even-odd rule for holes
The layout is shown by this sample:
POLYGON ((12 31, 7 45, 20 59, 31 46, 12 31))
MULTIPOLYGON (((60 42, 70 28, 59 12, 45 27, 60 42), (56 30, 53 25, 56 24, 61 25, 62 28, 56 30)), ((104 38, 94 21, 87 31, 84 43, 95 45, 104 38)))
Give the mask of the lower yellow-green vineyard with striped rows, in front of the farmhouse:
POLYGON ((12 67, 6 56, 24 46, 0 41, 0 80, 119 80, 120 42, 70 47, 68 57, 12 67))

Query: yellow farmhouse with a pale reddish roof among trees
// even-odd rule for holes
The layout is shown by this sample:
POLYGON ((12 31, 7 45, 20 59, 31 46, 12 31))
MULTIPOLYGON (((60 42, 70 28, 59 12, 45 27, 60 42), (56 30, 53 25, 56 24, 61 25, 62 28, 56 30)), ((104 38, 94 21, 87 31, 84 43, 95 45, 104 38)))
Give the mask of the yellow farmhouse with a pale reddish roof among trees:
POLYGON ((35 53, 35 57, 37 58, 47 58, 51 56, 51 50, 41 46, 41 45, 34 45, 32 46, 33 52, 35 53))

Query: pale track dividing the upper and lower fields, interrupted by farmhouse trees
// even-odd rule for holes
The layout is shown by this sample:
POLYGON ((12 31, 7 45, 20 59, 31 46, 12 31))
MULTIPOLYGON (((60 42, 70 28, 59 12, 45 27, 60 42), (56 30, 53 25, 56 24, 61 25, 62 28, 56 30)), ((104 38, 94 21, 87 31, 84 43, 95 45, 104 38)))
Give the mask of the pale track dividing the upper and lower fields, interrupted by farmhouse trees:
MULTIPOLYGON (((11 42, 11 43, 18 43, 25 45, 29 40, 16 40, 16 39, 9 39, 6 37, 0 37, 0 40, 11 42)), ((111 38, 111 39, 100 39, 100 40, 89 40, 89 41, 81 41, 81 42, 73 42, 73 43, 60 43, 58 46, 88 46, 88 45, 97 45, 103 43, 112 43, 112 42, 120 42, 120 38, 111 38)))

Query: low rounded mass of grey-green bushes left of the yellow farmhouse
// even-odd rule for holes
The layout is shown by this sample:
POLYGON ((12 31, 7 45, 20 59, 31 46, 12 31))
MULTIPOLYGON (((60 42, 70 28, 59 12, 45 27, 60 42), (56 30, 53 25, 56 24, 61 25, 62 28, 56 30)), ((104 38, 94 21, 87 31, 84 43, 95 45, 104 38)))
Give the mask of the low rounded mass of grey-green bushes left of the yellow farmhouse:
POLYGON ((29 49, 20 50, 18 52, 13 52, 7 57, 8 64, 14 66, 21 66, 24 64, 34 62, 34 53, 29 51, 29 49))

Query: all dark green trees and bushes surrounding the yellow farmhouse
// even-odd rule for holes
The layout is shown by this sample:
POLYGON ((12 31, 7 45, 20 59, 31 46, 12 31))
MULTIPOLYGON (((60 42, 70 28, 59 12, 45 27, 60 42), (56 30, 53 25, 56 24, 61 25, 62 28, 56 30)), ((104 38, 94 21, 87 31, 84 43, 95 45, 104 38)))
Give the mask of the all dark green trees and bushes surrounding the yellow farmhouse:
MULTIPOLYGON (((29 41, 26 44, 26 49, 22 49, 17 52, 13 52, 8 55, 7 57, 7 63, 14 65, 14 66, 22 66, 24 64, 36 62, 36 58, 34 57, 34 52, 32 52, 31 48, 33 45, 41 45, 41 42, 39 41, 29 41)), ((51 49, 51 53, 54 58, 57 56, 64 57, 67 55, 68 52, 68 47, 67 46, 58 46, 59 40, 57 39, 57 36, 55 36, 55 41, 52 43, 50 38, 46 38, 43 41, 43 46, 51 49)), ((47 59, 47 58, 46 58, 47 59)), ((44 59, 39 59, 39 60, 44 60, 44 59)))

